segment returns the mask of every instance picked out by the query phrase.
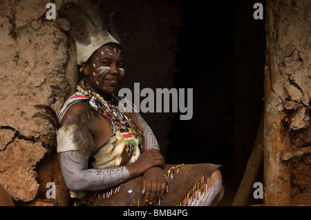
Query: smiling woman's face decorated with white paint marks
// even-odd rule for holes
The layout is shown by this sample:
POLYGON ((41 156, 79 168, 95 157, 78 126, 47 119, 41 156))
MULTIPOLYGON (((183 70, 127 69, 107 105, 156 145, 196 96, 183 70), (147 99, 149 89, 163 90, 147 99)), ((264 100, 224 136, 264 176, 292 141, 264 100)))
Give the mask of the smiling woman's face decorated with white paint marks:
POLYGON ((124 76, 123 65, 120 48, 102 46, 93 53, 90 64, 82 63, 86 83, 100 94, 114 92, 124 76))

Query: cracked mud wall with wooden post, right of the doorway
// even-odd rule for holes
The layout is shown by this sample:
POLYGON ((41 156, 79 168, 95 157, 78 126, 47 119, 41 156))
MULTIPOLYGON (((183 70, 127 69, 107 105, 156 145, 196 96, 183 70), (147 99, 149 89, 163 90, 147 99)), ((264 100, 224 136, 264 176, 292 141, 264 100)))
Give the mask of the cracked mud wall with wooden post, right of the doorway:
POLYGON ((309 205, 311 2, 267 1, 267 205, 309 205))

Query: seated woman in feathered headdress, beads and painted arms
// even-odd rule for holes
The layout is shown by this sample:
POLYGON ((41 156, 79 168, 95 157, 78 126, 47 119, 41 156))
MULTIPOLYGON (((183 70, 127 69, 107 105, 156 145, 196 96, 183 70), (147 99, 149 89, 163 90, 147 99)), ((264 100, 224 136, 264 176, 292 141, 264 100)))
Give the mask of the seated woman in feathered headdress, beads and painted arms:
POLYGON ((77 10, 68 6, 61 14, 71 19, 71 30, 88 31, 73 35, 84 79, 64 103, 57 130, 59 161, 74 204, 216 205, 223 197, 220 166, 165 164, 151 128, 113 94, 124 76, 120 43, 108 32, 97 33, 100 28, 89 27, 91 22, 87 28, 77 23, 86 21, 82 12, 96 14, 77 10))

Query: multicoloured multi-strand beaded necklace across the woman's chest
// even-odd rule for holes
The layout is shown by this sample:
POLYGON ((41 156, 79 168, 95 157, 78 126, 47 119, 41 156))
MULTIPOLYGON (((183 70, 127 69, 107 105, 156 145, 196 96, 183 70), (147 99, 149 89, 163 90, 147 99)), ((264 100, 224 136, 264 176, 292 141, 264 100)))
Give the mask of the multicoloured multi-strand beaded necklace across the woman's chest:
POLYGON ((120 132, 122 134, 122 138, 126 143, 126 152, 129 156, 135 154, 135 141, 133 140, 132 134, 136 138, 142 137, 142 132, 135 125, 133 119, 129 116, 129 114, 124 110, 124 112, 120 112, 118 109, 119 100, 113 93, 111 93, 111 101, 106 101, 100 94, 95 92, 91 86, 88 85, 82 79, 79 81, 77 85, 77 91, 82 94, 90 97, 97 103, 97 110, 99 110, 104 117, 109 119, 115 126, 120 128, 120 132), (129 128, 131 130, 129 130, 129 128))

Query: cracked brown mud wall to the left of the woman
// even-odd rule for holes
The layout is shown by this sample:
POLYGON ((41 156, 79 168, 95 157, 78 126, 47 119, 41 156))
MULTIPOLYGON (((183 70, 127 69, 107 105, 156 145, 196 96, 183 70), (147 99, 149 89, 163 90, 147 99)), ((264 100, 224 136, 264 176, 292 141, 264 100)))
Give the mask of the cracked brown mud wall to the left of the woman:
POLYGON ((40 162, 55 151, 55 133, 32 118, 34 106, 59 109, 70 90, 68 40, 45 20, 45 8, 46 1, 0 3, 0 183, 17 203, 34 200, 40 184, 60 178, 58 194, 63 185, 57 167, 45 183, 38 178, 40 162))

